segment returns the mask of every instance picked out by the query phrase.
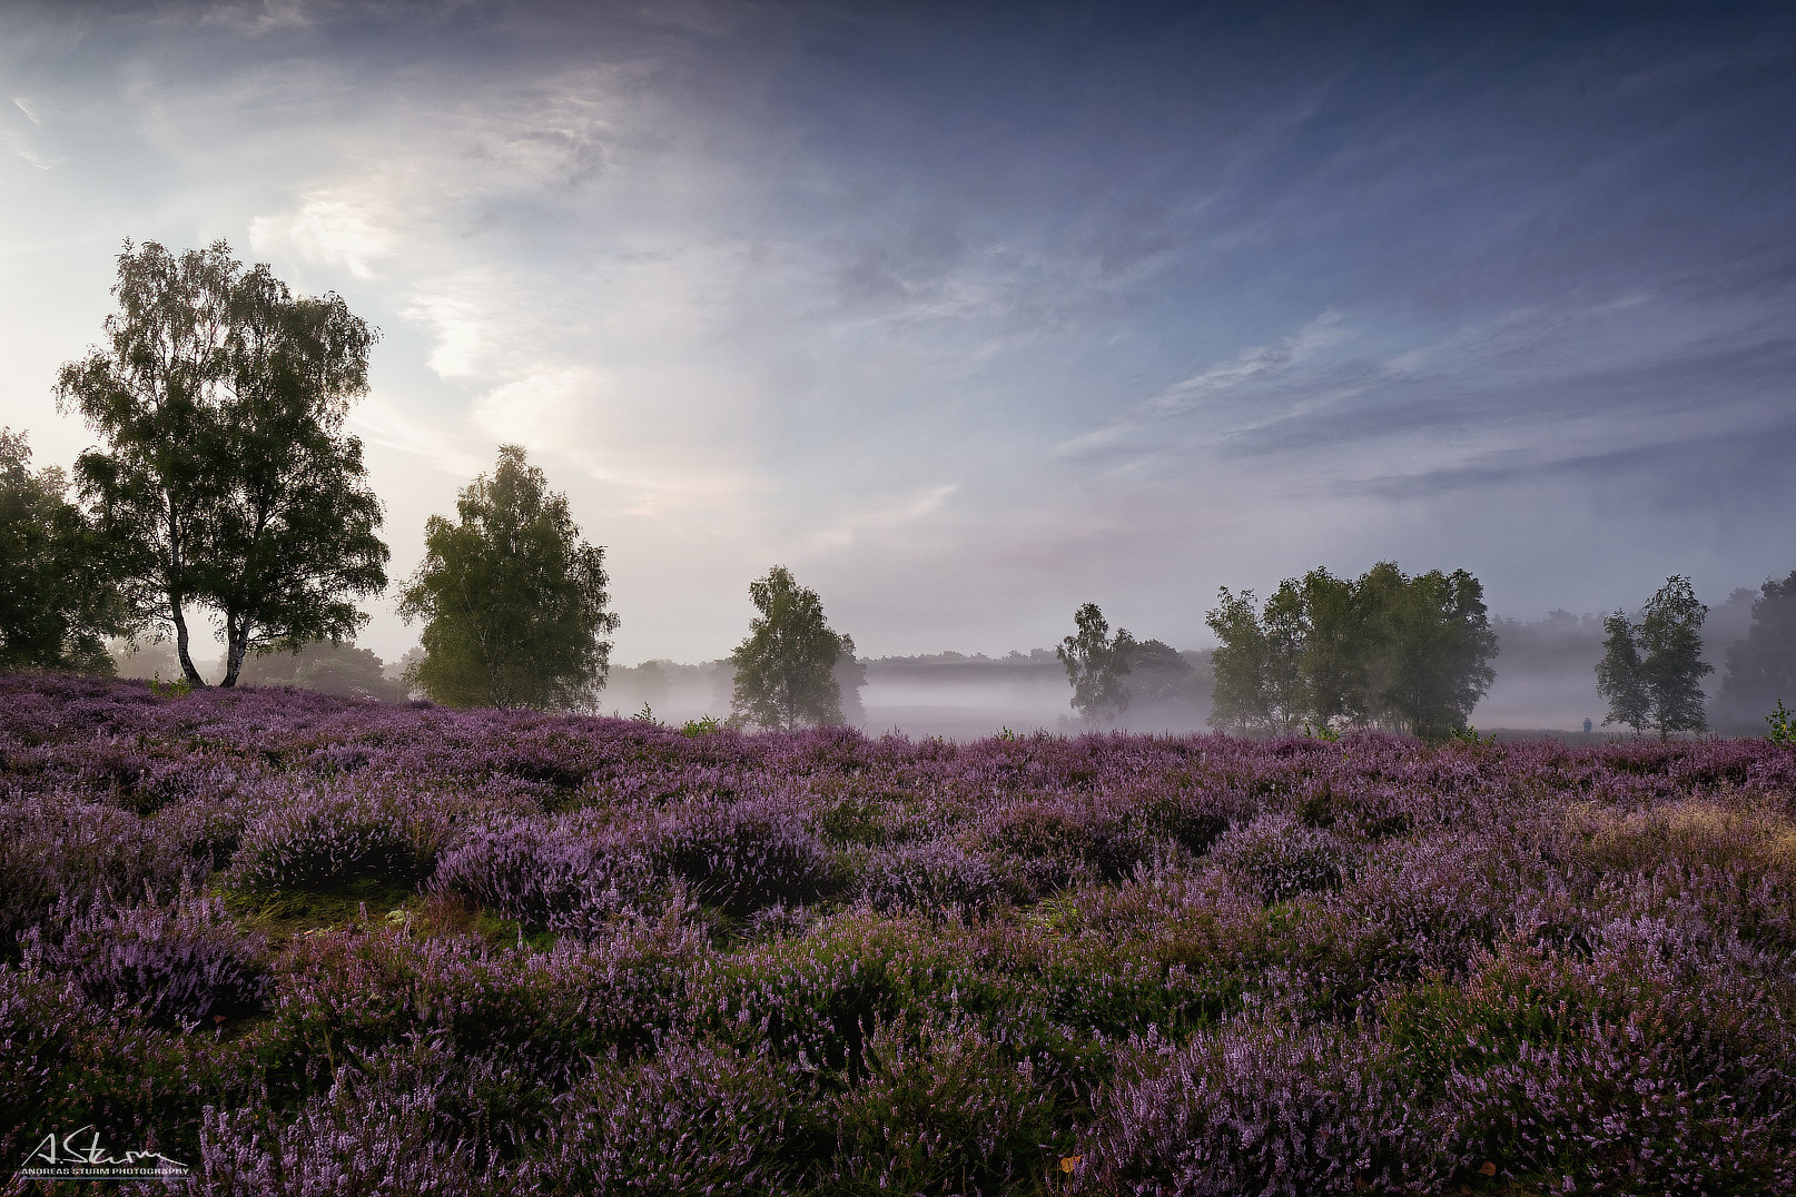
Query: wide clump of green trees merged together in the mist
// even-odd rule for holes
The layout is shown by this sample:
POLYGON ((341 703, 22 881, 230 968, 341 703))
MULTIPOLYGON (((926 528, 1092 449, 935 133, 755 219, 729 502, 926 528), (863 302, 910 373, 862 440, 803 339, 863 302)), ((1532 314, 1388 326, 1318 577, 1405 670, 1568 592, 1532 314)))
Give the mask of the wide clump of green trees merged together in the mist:
POLYGON ((1313 569, 1288 578, 1255 610, 1254 592, 1219 592, 1207 623, 1212 727, 1295 732, 1300 727, 1392 727, 1440 738, 1496 677, 1496 635, 1483 587, 1464 569, 1406 576, 1379 562, 1358 580, 1313 569))

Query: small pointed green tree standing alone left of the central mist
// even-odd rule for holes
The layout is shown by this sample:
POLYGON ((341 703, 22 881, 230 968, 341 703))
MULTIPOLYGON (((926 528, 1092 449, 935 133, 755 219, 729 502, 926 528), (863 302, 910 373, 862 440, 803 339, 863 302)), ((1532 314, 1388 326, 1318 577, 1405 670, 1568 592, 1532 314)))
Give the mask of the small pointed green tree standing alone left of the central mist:
MULTIPOLYGON (((823 599, 785 565, 751 581, 749 599, 762 614, 729 655, 736 671, 731 721, 785 730, 844 723, 839 669, 853 664, 853 637, 830 630, 823 599)), ((858 682, 858 675, 850 680, 858 682)))

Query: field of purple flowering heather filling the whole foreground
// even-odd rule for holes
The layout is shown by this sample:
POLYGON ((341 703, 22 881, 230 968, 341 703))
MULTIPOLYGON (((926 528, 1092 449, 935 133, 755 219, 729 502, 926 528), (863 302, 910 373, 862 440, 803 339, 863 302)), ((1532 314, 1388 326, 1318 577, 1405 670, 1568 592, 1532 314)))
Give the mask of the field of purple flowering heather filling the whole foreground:
POLYGON ((92 1123, 244 1197, 1796 1184, 1765 741, 954 745, 0 677, 0 754, 7 1175, 92 1123))

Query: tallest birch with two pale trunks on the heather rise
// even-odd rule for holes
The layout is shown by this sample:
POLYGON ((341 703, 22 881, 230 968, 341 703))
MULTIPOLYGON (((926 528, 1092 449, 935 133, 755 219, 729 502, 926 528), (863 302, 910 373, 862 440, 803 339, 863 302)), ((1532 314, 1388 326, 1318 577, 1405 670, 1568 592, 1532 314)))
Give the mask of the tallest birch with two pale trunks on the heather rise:
POLYGON ((190 603, 224 633, 223 686, 251 650, 354 633, 352 596, 386 587, 381 502, 343 434, 375 330, 336 294, 244 269, 223 240, 180 257, 126 242, 113 296, 106 348, 66 363, 56 397, 106 441, 75 477, 119 546, 131 616, 174 630, 196 686, 190 603))

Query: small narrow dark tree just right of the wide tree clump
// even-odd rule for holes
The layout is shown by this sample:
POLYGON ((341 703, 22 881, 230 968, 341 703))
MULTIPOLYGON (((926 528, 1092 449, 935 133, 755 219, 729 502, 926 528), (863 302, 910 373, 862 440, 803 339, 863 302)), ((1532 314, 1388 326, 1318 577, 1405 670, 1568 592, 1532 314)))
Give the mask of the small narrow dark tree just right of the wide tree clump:
POLYGON ((1703 675, 1715 666, 1703 660, 1706 614, 1690 580, 1672 576, 1647 599, 1638 625, 1622 612, 1604 619, 1609 637, 1597 664, 1597 693, 1609 702, 1604 723, 1627 723, 1636 732, 1652 727, 1661 739, 1708 727, 1703 675))

